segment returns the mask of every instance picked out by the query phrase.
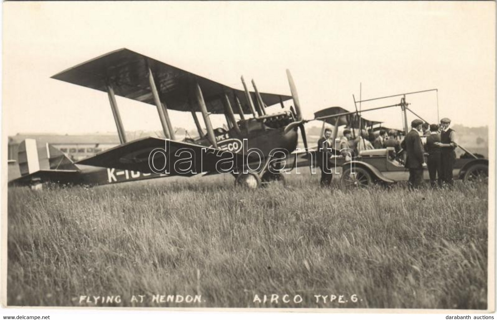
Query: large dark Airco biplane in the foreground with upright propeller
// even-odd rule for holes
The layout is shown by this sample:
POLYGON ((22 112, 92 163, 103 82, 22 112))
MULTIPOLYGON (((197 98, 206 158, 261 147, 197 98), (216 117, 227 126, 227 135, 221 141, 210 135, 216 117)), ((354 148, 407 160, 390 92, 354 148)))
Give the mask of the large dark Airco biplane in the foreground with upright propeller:
MULTIPOLYGON (((50 157, 40 158, 38 155, 39 159, 35 161, 38 164, 32 165, 38 170, 21 169, 22 176, 13 183, 37 179, 101 184, 109 181, 109 171, 106 176, 102 169, 94 168, 103 167, 142 178, 231 173, 236 177, 236 184, 257 187, 261 183, 283 179, 278 168, 283 159, 288 159, 295 151, 299 129, 307 149, 297 91, 288 70, 292 95, 264 93, 258 91, 253 80, 253 91, 250 91, 242 77, 244 90, 241 90, 131 50, 120 49, 52 78, 106 92, 120 145, 76 163, 67 163, 64 169, 51 162, 50 157), (116 96, 154 106, 165 139, 148 137, 127 141, 116 96), (285 110, 284 102, 290 99, 293 99, 294 106, 285 110), (268 106, 276 104, 281 106, 280 112, 266 112, 268 106), (168 110, 191 113, 198 138, 176 139, 168 110), (203 126, 197 114, 201 115, 203 126), (210 120, 213 114, 224 114, 227 129, 213 128, 210 120), (45 170, 39 169, 40 159, 45 170), (83 169, 83 165, 87 167, 83 169), (88 178, 90 172, 92 178, 88 178)), ((30 147, 24 147, 24 150, 43 149, 43 146, 32 144, 30 142, 30 147)), ((55 155, 53 150, 49 154, 55 155)), ((27 163, 29 159, 25 159, 27 163)))

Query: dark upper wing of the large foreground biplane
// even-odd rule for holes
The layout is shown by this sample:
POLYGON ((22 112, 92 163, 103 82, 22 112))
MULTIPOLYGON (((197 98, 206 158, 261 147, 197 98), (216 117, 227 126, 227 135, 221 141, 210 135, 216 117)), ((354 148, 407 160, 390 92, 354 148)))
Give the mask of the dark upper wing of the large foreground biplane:
MULTIPOLYGON (((244 113, 251 113, 244 91, 167 65, 128 49, 107 53, 69 68, 52 76, 52 78, 104 92, 107 92, 106 85, 111 84, 114 93, 119 96, 155 105, 148 77, 149 68, 154 75, 161 100, 166 103, 168 109, 200 111, 195 103, 197 100, 194 91, 194 87, 198 83, 202 88, 209 112, 224 113, 222 98, 226 93, 232 105, 236 103, 236 95, 242 104, 244 113), (190 101, 194 102, 191 103, 191 106, 190 101)), ((255 99, 254 93, 251 94, 252 99, 255 99)), ((260 94, 267 106, 291 99, 291 96, 283 94, 260 94)))

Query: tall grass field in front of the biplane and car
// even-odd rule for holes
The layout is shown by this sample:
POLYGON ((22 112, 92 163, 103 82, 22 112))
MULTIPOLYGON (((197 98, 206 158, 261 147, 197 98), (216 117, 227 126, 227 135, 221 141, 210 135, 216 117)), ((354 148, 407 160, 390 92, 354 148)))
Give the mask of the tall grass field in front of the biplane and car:
POLYGON ((318 180, 11 188, 8 305, 487 308, 486 185, 342 191, 318 180))

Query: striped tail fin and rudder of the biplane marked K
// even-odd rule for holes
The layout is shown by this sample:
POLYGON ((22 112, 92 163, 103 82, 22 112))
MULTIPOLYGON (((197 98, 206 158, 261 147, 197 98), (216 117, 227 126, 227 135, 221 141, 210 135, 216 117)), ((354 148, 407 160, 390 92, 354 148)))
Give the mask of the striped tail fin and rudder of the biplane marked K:
POLYGON ((21 176, 40 170, 78 170, 74 162, 60 150, 35 139, 21 142, 17 156, 21 176))

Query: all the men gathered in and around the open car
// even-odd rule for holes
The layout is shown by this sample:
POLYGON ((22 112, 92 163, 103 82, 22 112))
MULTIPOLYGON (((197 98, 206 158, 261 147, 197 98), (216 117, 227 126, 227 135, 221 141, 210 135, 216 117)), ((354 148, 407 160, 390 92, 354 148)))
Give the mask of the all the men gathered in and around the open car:
POLYGON ((381 149, 393 147, 396 153, 401 148, 406 152, 405 167, 409 169, 409 187, 417 188, 423 183, 424 168, 428 168, 430 184, 432 187, 447 184, 452 186, 452 170, 456 155, 454 149, 457 147, 455 131, 449 128, 450 119, 443 118, 440 125, 423 123, 419 119, 411 122, 412 130, 406 135, 402 143, 397 140, 397 132, 380 130, 379 136, 369 140, 369 134, 361 130, 361 134, 352 139, 349 129, 343 130, 339 140, 339 147, 333 145, 331 140, 331 129, 325 129, 324 137, 318 141, 317 164, 321 168, 321 185, 327 186, 331 183, 331 168, 324 162, 330 159, 332 149, 340 150, 345 160, 350 160, 353 153, 359 154, 363 150, 381 149), (423 144, 421 136, 426 137, 423 144), (425 161, 425 155, 426 161, 425 161))

